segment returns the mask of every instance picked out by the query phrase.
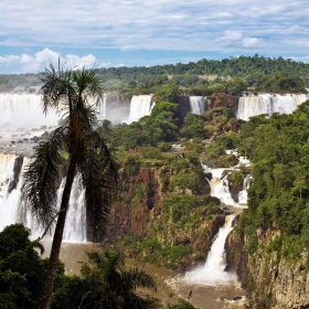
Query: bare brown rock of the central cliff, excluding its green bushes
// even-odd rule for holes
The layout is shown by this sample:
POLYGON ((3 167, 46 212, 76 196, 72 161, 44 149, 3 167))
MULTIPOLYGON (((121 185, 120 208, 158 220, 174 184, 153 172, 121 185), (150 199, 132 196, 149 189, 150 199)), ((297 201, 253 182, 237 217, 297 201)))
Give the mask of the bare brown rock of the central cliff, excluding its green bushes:
MULTIPOLYGON (((103 244, 113 246, 127 234, 138 234, 156 238, 164 246, 190 246, 194 254, 190 260, 188 258, 188 260, 181 260, 181 268, 187 268, 193 260, 204 260, 213 237, 225 222, 225 216, 220 209, 217 214, 212 216, 209 216, 205 210, 199 215, 196 224, 192 226, 177 226, 172 222, 163 224, 162 203, 166 192, 170 190, 167 179, 174 178, 177 173, 177 170, 167 171, 166 167, 140 168, 134 174, 121 171, 121 190, 118 200, 111 206, 106 230, 107 236, 103 244), (159 225, 160 231, 156 227, 159 225)), ((202 195, 204 193, 200 192, 202 195)))

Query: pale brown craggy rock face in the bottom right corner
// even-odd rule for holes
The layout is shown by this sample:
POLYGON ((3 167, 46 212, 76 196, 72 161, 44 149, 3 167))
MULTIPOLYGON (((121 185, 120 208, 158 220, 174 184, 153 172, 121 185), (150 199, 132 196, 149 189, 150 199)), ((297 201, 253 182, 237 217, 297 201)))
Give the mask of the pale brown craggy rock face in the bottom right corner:
POLYGON ((288 259, 276 251, 267 251, 279 231, 258 231, 258 249, 249 254, 249 242, 233 231, 225 243, 228 268, 251 297, 249 308, 309 308, 308 252, 288 259))

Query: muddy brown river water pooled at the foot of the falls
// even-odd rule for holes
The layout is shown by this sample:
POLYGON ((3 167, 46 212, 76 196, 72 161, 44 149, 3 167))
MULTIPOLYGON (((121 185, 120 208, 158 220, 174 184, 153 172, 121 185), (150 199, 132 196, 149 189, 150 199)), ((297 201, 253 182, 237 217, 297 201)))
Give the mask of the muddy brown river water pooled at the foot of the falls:
MULTIPOLYGON (((45 247, 44 256, 49 256, 51 243, 43 242, 45 247)), ((72 244, 63 243, 60 258, 65 264, 66 274, 78 274, 81 264, 78 260, 87 260, 85 251, 90 251, 96 246, 90 243, 72 244)), ((157 294, 154 297, 162 300, 163 305, 175 303, 178 298, 188 299, 190 292, 190 302, 201 309, 232 309, 245 308, 244 297, 245 290, 239 287, 235 280, 220 281, 215 286, 207 286, 206 284, 188 283, 184 280, 184 274, 179 274, 171 269, 160 267, 153 264, 137 263, 134 259, 126 259, 127 267, 145 266, 146 269, 154 275, 157 284, 157 294), (233 298, 237 300, 233 300, 233 298)), ((192 270, 196 271, 196 270, 192 270)), ((199 270, 198 270, 199 271, 199 270)))

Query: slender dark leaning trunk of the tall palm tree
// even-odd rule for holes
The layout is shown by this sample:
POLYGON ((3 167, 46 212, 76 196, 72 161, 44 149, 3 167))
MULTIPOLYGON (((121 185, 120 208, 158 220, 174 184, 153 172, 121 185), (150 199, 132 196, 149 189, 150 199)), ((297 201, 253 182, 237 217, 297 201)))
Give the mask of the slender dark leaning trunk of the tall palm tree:
POLYGON ((60 213, 58 213, 56 228, 53 237, 49 268, 45 278, 45 286, 44 286, 41 303, 39 307, 40 309, 50 309, 51 307, 52 294, 54 290, 54 283, 55 283, 55 277, 57 271, 58 255, 60 255, 63 231, 65 225, 65 217, 68 209, 71 189, 73 185, 75 171, 76 171, 76 161, 77 161, 76 157, 72 156, 67 169, 66 182, 63 190, 60 213))

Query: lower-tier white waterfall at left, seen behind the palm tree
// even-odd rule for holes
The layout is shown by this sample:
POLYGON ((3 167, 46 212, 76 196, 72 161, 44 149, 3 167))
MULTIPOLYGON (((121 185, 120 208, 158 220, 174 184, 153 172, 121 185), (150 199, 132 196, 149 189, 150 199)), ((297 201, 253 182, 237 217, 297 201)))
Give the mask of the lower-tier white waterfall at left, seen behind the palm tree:
MULTIPOLYGON (((17 157, 13 154, 0 153, 0 177, 1 181, 6 179, 9 180, 3 187, 0 195, 0 231, 2 231, 7 225, 13 223, 23 223, 32 232, 31 237, 36 238, 43 234, 43 228, 38 226, 35 217, 30 215, 26 210, 24 202, 22 201, 22 172, 29 162, 28 158, 23 159, 21 175, 17 174, 14 169, 17 162, 17 157), (10 191, 10 183, 17 180, 15 188, 10 191)), ((57 207, 60 207, 62 192, 64 189, 65 179, 63 179, 62 184, 57 192, 57 207)), ((77 179, 75 178, 73 183, 73 189, 70 198, 70 209, 66 215, 65 230, 64 230, 64 242, 70 243, 82 243, 86 242, 86 214, 84 207, 84 190, 81 188, 77 179)), ((51 238, 46 236, 46 238, 51 238)))

